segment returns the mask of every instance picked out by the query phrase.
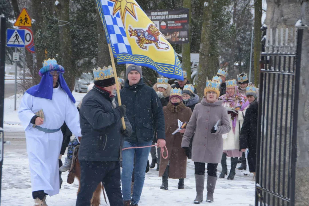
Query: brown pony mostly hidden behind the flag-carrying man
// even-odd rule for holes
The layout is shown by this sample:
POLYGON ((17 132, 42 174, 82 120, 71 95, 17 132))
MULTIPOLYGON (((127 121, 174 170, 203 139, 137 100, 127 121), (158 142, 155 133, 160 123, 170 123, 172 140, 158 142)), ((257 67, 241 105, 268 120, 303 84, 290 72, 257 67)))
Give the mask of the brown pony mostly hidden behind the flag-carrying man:
MULTIPOLYGON (((78 161, 78 148, 79 145, 75 147, 74 151, 73 151, 73 158, 72 158, 72 165, 68 174, 68 179, 67 182, 69 184, 72 184, 74 182, 74 177, 76 177, 78 179, 79 182, 79 186, 78 186, 78 192, 80 191, 80 164, 78 161)), ((100 195, 101 195, 101 189, 103 191, 103 195, 104 195, 104 200, 107 204, 106 201, 106 197, 105 197, 105 192, 104 192, 104 187, 103 184, 100 182, 98 184, 98 187, 95 189, 95 191, 93 192, 92 198, 91 198, 91 206, 99 206, 100 205, 100 195)))

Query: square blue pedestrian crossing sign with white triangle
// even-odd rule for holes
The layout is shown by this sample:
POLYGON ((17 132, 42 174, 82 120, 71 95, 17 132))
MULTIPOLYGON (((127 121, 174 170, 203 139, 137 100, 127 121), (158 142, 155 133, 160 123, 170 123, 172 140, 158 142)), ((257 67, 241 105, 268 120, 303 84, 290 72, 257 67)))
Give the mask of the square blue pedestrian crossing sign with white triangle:
POLYGON ((6 30, 7 47, 25 47, 25 30, 24 29, 7 29, 6 30))

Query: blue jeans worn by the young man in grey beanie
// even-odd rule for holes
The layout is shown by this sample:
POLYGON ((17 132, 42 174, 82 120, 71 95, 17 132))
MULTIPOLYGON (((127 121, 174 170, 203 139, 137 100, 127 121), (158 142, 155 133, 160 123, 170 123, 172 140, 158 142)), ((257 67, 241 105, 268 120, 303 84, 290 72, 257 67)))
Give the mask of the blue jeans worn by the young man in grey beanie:
MULTIPOLYGON (((142 147, 150 146, 152 141, 145 143, 130 143, 125 141, 123 148, 127 147, 142 147)), ((138 204, 138 201, 142 194, 144 186, 145 172, 148 161, 148 155, 150 153, 150 147, 138 148, 138 149, 126 149, 122 151, 122 173, 121 173, 121 184, 122 184, 122 195, 123 200, 131 200, 132 204, 138 204), (134 188, 133 196, 131 200, 131 178, 134 164, 134 153, 136 155, 135 168, 134 168, 134 188)))

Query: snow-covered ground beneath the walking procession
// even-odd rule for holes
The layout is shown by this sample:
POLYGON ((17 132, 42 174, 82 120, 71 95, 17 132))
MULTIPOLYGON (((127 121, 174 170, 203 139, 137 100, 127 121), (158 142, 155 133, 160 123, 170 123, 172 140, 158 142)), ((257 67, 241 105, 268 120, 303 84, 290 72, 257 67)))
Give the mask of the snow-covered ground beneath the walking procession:
MULTIPOLYGON (((76 104, 85 94, 73 92, 76 104)), ((21 95, 18 96, 17 106, 20 104, 21 95)), ((5 99, 5 125, 4 132, 16 132, 16 138, 10 139, 10 144, 4 146, 4 161, 2 168, 2 191, 1 205, 3 206, 28 206, 33 205, 31 193, 30 171, 26 152, 26 142, 16 111, 14 111, 14 96, 5 99), (11 123, 11 124, 8 124, 11 123), (14 123, 14 124, 13 124, 14 123)), ((4 133, 5 134, 5 133, 4 133)), ((12 133, 10 133, 12 136, 12 133)), ((66 155, 62 156, 64 161, 66 155)), ((151 156, 149 156, 151 161, 151 156)), ((227 159, 228 170, 230 169, 230 158, 227 159)), ((239 167, 240 164, 237 165, 239 167)), ((178 179, 169 179, 169 190, 160 190, 162 178, 158 177, 159 172, 154 169, 146 174, 145 184, 139 202, 139 206, 163 205, 180 206, 193 205, 196 195, 194 164, 188 160, 187 178, 184 181, 185 189, 178 190, 178 179)), ((248 169, 248 167, 247 167, 248 169)), ((206 171, 207 172, 207 171, 206 171)), ((221 165, 218 166, 218 175, 221 172, 221 165)), ((213 206, 249 206, 254 205, 255 181, 253 175, 247 171, 236 171, 234 180, 218 179, 214 192, 213 206)), ((76 203, 76 193, 78 180, 73 184, 66 182, 67 172, 62 173, 63 184, 58 195, 47 197, 49 206, 74 206, 76 203)), ((204 196, 206 196, 206 180, 204 196)), ((101 195, 101 205, 106 205, 101 195)), ((109 204, 108 204, 109 205, 109 204)), ((202 202, 201 205, 209 205, 202 202)))

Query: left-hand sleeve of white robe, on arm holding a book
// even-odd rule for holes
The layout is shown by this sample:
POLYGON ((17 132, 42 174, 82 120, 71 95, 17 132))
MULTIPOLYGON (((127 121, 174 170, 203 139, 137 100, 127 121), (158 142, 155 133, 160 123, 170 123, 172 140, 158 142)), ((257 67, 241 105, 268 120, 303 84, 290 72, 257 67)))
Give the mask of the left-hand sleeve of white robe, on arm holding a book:
POLYGON ((28 130, 32 127, 33 124, 30 123, 31 119, 35 114, 32 109, 33 96, 25 93, 21 100, 19 109, 18 109, 18 117, 21 123, 23 124, 23 128, 28 130))

